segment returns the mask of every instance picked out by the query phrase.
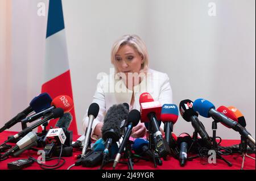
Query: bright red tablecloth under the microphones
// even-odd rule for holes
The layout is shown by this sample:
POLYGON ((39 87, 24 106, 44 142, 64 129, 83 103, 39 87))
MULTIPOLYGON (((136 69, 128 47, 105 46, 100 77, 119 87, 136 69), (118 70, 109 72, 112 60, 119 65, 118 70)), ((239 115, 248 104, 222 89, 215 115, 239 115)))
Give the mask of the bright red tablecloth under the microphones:
MULTIPOLYGON (((14 135, 16 132, 9 132, 5 131, 0 133, 0 143, 4 142, 7 139, 7 136, 14 135)), ((73 136, 73 141, 75 141, 79 136, 73 136)), ((234 144, 239 144, 240 140, 222 140, 221 146, 230 146, 234 144)), ((10 143, 8 143, 10 144, 10 143)), ((14 144, 10 144, 14 145, 14 144)), ((76 162, 76 159, 74 158, 75 155, 81 154, 81 151, 74 149, 73 150, 73 157, 63 157, 65 159, 65 163, 63 166, 59 168, 59 170, 66 170, 69 166, 73 165, 76 162)), ((162 166, 154 167, 154 163, 140 160, 138 163, 134 164, 134 170, 240 170, 241 164, 242 164, 242 157, 239 157, 237 159, 233 159, 234 157, 237 157, 238 154, 232 154, 232 155, 224 155, 223 157, 230 161, 233 166, 229 167, 224 161, 221 159, 217 159, 217 164, 210 164, 207 163, 206 165, 203 165, 200 162, 200 158, 195 158, 193 161, 188 161, 187 164, 184 167, 181 167, 179 164, 179 161, 177 161, 175 158, 168 157, 167 161, 163 161, 162 166)), ((28 158, 28 156, 32 156, 34 158, 38 158, 39 155, 35 151, 27 150, 24 151, 20 155, 20 157, 9 157, 5 161, 0 162, 0 170, 6 170, 7 169, 7 163, 16 161, 20 158, 28 158)), ((255 158, 255 154, 250 154, 251 157, 255 158)), ((53 165, 54 163, 57 163, 57 160, 54 161, 47 161, 47 165, 53 165)), ((76 166, 72 167, 71 170, 97 170, 98 167, 82 167, 82 166, 76 166)), ((112 163, 109 163, 104 167, 105 170, 112 170, 112 163)), ((125 164, 118 163, 115 170, 127 170, 128 167, 125 164)), ((248 157, 245 158, 245 164, 243 167, 244 170, 255 170, 255 160, 250 159, 248 157)), ((24 170, 42 170, 38 163, 32 163, 32 166, 27 167, 24 170)))

